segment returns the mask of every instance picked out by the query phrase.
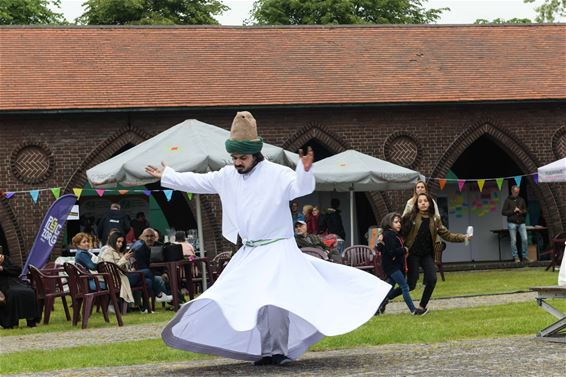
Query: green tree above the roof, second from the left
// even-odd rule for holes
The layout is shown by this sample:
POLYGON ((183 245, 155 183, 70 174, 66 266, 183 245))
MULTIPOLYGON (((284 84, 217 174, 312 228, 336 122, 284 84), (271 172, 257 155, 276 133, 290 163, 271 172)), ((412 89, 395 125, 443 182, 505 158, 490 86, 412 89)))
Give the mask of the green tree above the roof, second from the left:
POLYGON ((228 8, 218 0, 87 0, 85 25, 217 25, 228 8))

